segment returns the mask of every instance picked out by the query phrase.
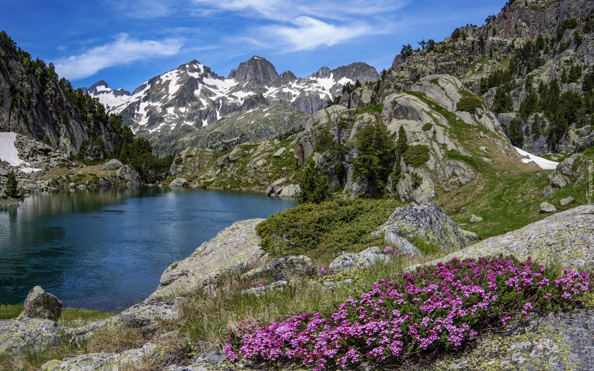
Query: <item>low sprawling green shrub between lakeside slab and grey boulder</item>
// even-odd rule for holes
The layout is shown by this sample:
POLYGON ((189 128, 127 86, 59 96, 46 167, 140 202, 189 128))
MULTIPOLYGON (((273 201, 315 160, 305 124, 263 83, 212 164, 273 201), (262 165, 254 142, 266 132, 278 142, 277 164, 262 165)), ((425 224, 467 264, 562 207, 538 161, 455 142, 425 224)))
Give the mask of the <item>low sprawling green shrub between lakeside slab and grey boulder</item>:
POLYGON ((302 204, 270 215, 256 226, 260 246, 272 256, 335 256, 383 245, 369 233, 381 226, 399 202, 394 199, 334 199, 320 205, 302 204))

